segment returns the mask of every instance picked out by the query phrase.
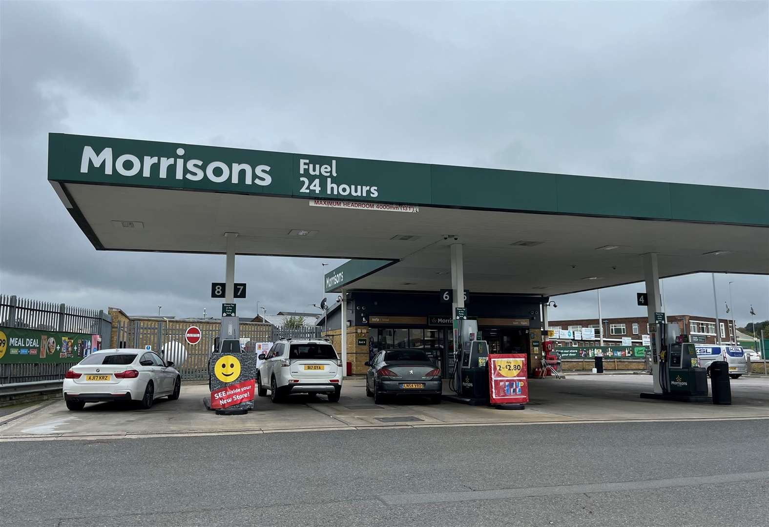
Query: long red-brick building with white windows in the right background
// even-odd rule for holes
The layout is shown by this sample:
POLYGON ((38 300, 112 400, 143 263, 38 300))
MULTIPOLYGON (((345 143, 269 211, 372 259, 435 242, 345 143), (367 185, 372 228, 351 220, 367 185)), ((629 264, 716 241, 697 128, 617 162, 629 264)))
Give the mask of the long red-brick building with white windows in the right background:
MULTIPOLYGON (((697 315, 668 315, 668 323, 677 323, 681 333, 688 335, 702 335, 706 343, 734 343, 734 328, 731 320, 720 319, 718 326, 716 320, 711 317, 700 317, 697 315)), ((604 318, 603 327, 598 324, 598 319, 576 319, 576 320, 551 320, 548 323, 548 330, 558 332, 551 336, 556 346, 598 346, 601 333, 604 333, 604 343, 607 345, 618 345, 627 342, 630 339, 631 346, 644 345, 644 335, 650 334, 649 321, 647 317, 618 317, 604 318), (594 338, 584 339, 582 329, 592 329, 594 338)))

